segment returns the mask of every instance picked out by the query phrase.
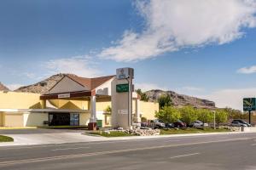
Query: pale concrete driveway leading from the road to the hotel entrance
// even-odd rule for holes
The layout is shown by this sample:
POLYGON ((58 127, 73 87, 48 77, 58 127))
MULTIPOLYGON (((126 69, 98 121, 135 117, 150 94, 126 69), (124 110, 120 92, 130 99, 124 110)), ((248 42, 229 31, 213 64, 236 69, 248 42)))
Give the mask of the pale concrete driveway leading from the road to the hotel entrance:
POLYGON ((84 135, 84 130, 63 130, 63 129, 15 129, 0 130, 0 134, 15 139, 15 142, 0 143, 6 145, 27 145, 27 144, 64 144, 105 140, 103 137, 84 135))

